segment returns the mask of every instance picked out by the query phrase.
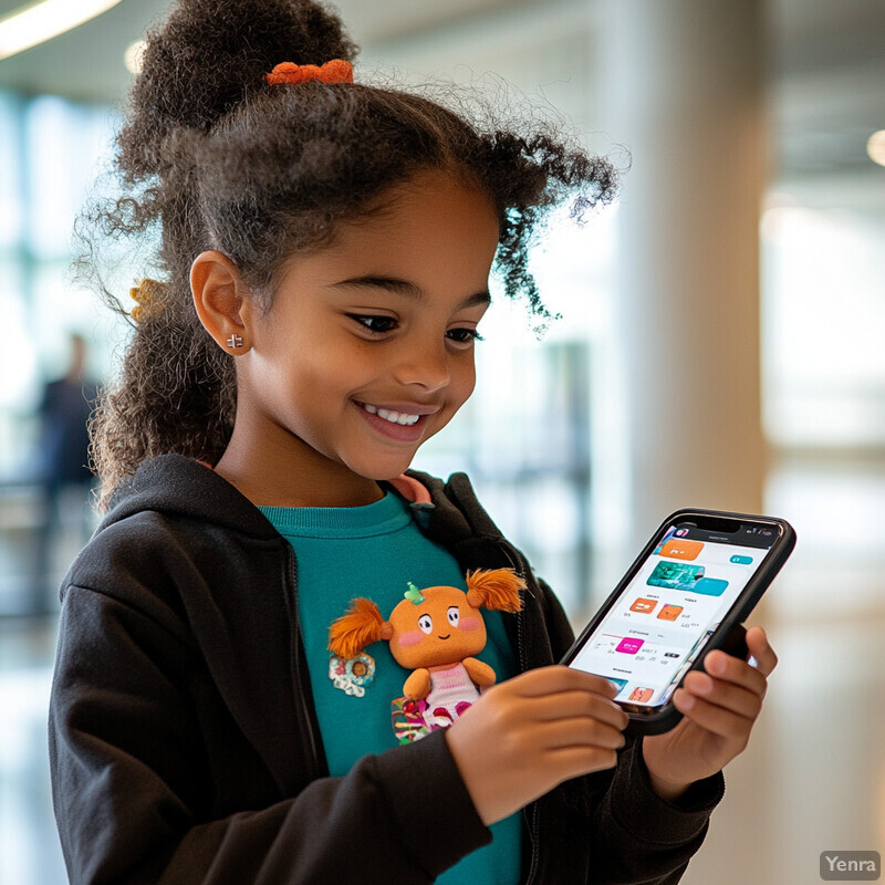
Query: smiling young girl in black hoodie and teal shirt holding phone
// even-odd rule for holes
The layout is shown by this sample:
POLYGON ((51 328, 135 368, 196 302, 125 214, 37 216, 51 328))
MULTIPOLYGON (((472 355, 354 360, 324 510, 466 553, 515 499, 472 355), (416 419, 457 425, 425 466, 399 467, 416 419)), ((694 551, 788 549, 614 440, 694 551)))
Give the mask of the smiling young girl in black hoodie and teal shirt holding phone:
MULTIPOLYGON (((669 735, 553 666, 568 622, 467 478, 405 471, 473 387, 493 263, 538 302, 545 210, 602 160, 352 80, 309 0, 180 0, 148 40, 113 230, 158 230, 95 452, 107 514, 65 579, 50 739, 73 883, 673 883, 746 745, 758 668, 708 657, 669 735), (406 670, 360 691, 330 625, 408 582, 527 582, 486 614, 498 684, 396 746, 406 670)), ((353 664, 353 662, 348 662, 353 664)), ((356 673, 356 670, 353 670, 356 673)))

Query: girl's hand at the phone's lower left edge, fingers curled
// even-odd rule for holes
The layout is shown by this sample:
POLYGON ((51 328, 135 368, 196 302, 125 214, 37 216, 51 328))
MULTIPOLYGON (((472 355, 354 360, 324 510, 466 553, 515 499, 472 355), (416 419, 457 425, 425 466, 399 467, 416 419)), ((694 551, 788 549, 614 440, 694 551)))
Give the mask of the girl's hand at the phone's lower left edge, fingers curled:
POLYGON ((606 679, 541 667, 494 686, 446 733, 482 822, 500 821, 562 781, 612 768, 626 714, 606 679))

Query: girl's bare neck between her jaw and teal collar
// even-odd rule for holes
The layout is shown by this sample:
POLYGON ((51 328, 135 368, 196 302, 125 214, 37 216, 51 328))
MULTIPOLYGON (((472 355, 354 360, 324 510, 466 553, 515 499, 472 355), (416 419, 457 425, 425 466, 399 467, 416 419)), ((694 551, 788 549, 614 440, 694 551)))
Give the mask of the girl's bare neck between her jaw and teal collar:
POLYGON ((216 472, 253 504, 262 507, 362 507, 384 492, 374 479, 361 477, 325 458, 298 437, 279 433, 252 439, 239 420, 216 472))

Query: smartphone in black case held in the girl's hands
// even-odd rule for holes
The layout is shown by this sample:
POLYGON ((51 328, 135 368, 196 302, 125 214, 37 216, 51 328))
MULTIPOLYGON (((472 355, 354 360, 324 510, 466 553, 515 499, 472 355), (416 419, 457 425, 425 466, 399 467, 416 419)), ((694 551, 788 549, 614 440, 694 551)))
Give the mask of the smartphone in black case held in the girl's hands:
POLYGON ((795 532, 782 519, 677 510, 562 663, 617 686, 628 733, 669 731, 681 718, 673 693, 708 652, 746 656, 741 622, 794 545, 795 532))

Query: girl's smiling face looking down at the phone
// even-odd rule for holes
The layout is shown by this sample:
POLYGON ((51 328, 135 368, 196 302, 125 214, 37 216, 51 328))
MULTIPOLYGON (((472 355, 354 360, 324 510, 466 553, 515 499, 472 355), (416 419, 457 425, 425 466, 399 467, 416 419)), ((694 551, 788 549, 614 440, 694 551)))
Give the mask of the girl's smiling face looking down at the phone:
POLYGON ((273 306, 252 314, 235 440, 248 423, 256 456, 278 470, 345 486, 398 476, 473 389, 492 204, 441 171, 391 196, 329 248, 293 259, 273 306))

